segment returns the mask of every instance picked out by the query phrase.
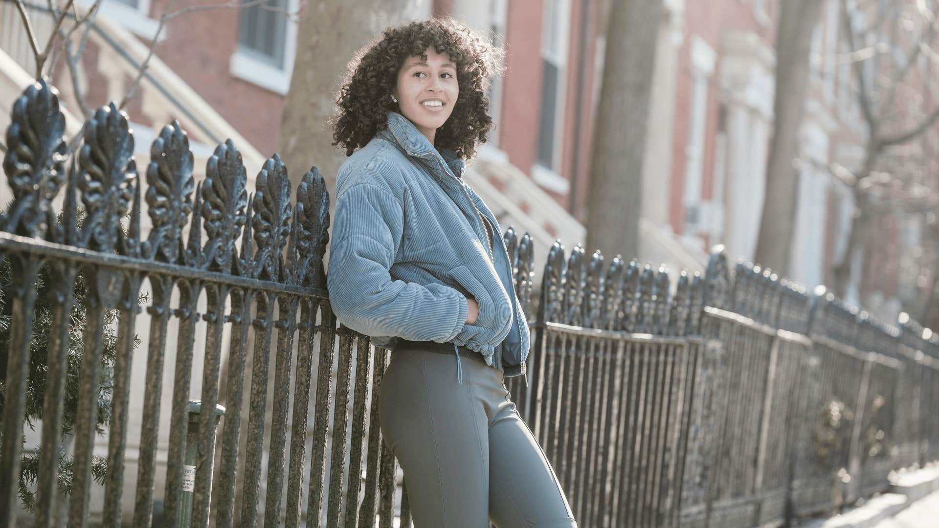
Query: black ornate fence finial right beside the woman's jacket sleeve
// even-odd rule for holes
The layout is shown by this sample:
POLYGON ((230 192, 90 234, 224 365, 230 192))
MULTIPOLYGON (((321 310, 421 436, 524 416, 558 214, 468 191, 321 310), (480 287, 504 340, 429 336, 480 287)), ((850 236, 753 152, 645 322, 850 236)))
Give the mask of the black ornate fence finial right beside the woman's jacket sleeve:
POLYGON ((326 287, 323 255, 330 242, 330 194, 316 167, 306 171, 297 187, 297 251, 300 257, 298 282, 303 286, 326 287))

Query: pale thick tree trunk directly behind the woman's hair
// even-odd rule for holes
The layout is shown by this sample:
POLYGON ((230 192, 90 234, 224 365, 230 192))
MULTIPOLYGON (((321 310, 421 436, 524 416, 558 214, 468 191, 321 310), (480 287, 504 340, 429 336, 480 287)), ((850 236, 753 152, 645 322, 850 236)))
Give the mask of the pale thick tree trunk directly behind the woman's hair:
MULTIPOLYGON (((297 32, 297 59, 287 94, 277 152, 287 166, 294 190, 303 174, 316 165, 334 198, 336 172, 346 153, 332 147, 336 95, 353 54, 390 25, 428 16, 418 0, 312 0, 303 8, 297 32)), ((335 211, 330 202, 330 216, 335 211)))

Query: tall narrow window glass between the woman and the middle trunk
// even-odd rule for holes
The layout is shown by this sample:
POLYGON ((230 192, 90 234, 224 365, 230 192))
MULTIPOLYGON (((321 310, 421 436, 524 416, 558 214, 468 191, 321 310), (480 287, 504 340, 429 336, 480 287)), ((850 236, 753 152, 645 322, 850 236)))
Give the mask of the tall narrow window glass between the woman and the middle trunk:
POLYGON ((541 126, 538 132, 537 162, 548 169, 558 165, 562 130, 564 72, 567 55, 568 0, 546 0, 542 30, 541 126))

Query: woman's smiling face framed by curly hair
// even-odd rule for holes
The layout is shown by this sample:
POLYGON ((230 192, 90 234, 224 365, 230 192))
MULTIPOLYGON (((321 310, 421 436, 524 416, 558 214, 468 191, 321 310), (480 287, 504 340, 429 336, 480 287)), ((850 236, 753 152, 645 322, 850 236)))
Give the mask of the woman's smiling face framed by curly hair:
POLYGON ((392 90, 398 100, 401 114, 414 123, 431 145, 434 135, 454 112, 460 89, 456 82, 456 65, 448 54, 438 54, 433 48, 420 56, 409 56, 392 90))

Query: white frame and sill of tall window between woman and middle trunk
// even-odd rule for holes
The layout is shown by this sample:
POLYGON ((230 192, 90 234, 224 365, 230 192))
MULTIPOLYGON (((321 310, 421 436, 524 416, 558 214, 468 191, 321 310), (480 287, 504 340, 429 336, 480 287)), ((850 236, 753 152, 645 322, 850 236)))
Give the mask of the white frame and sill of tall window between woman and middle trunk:
MULTIPOLYGON (((558 68, 558 87, 555 108, 554 108, 554 138, 551 148, 551 166, 546 167, 535 159, 535 166, 531 169, 531 176, 540 185, 556 193, 566 194, 570 188, 570 182, 563 178, 556 167, 561 166, 563 137, 564 137, 564 109, 567 102, 567 54, 568 40, 570 39, 570 0, 555 0, 557 2, 558 12, 554 22, 557 24, 555 33, 557 42, 547 42, 547 32, 542 31, 541 54, 540 59, 546 59, 554 63, 558 68), (554 44, 554 46, 552 46, 554 44), (556 49, 551 49, 552 47, 556 49), (563 183, 562 183, 563 181, 563 183), (561 191, 563 189, 563 191, 561 191)), ((547 18, 547 9, 550 0, 544 4, 544 16, 547 18)), ((539 106, 540 109, 540 106, 539 106)), ((540 117, 540 116, 539 116, 540 117)))

